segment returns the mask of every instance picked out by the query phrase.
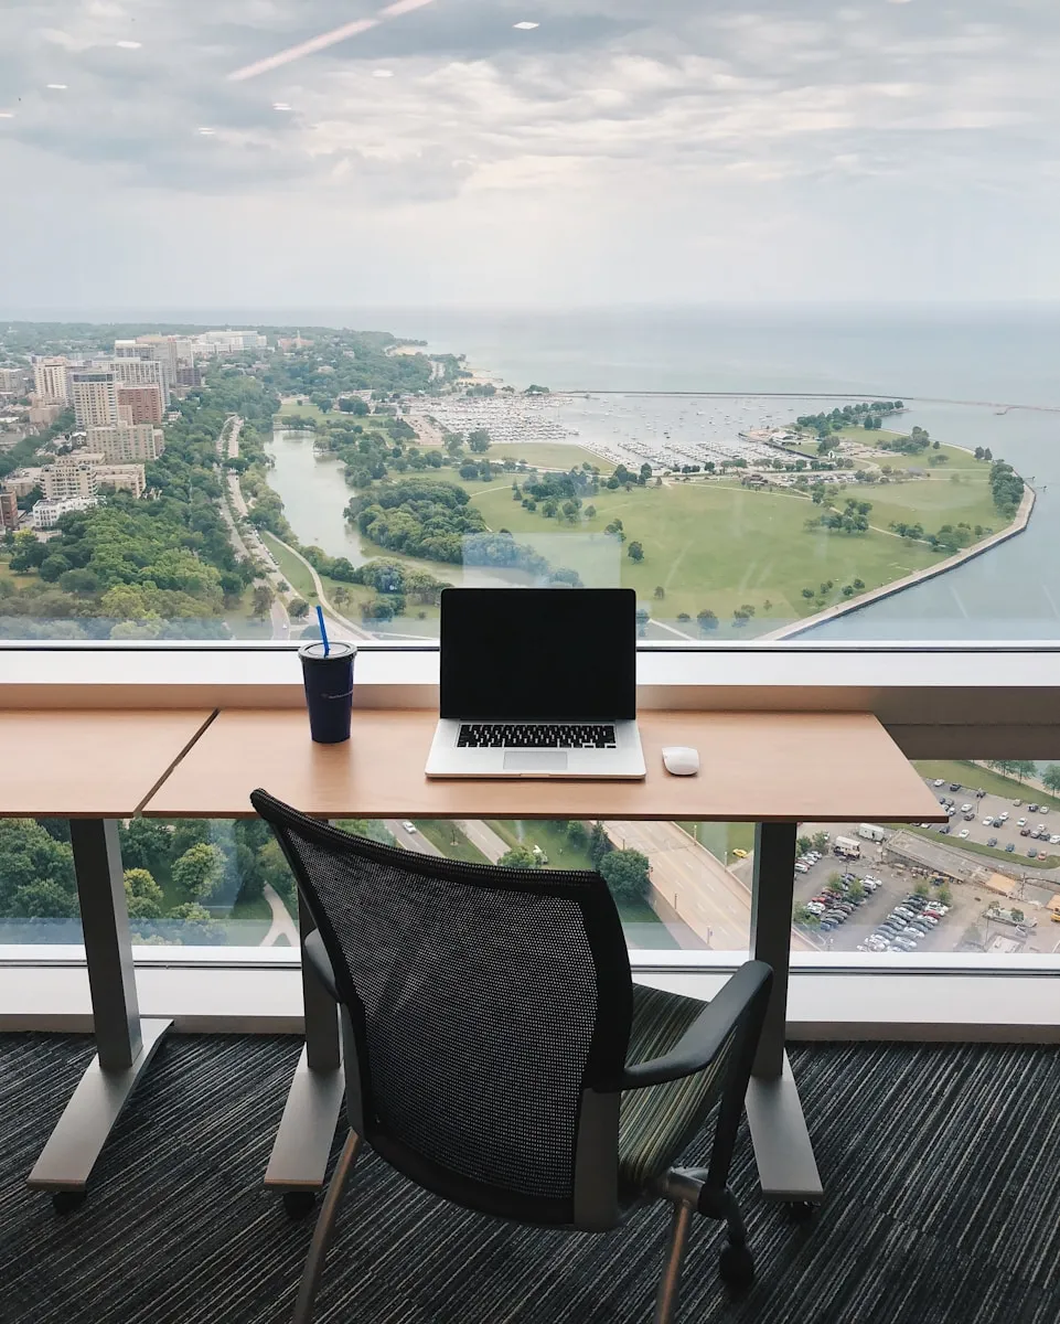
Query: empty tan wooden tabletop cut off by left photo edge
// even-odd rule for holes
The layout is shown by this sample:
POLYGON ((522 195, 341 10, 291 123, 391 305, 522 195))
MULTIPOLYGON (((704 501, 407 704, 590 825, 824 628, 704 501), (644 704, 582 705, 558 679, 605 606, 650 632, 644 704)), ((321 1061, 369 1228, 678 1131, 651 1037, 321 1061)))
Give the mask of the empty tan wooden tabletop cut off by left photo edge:
POLYGON ((0 817, 130 818, 210 715, 3 711, 0 817))

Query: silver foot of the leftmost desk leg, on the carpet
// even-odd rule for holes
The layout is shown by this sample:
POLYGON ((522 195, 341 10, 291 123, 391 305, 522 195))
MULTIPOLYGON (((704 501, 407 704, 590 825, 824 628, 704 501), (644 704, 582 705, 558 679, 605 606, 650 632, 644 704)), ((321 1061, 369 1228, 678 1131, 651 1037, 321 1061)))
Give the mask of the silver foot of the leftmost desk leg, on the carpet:
POLYGON ((144 1074, 172 1021, 140 1021, 143 1046, 130 1067, 107 1070, 93 1058, 74 1090, 41 1156, 26 1178, 36 1190, 50 1190, 62 1213, 78 1204, 107 1137, 136 1082, 144 1074))

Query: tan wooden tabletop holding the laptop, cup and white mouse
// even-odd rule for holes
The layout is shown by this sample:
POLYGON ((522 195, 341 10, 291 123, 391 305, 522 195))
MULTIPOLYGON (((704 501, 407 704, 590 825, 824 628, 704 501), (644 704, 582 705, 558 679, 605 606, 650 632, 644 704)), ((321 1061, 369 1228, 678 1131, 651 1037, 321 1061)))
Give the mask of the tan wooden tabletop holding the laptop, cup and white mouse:
POLYGON ((319 745, 302 710, 222 711, 143 812, 245 817, 263 786, 322 818, 942 818, 871 714, 648 711, 638 716, 644 781, 429 780, 435 720, 425 710, 359 710, 348 743, 319 745), (699 749, 695 777, 663 769, 668 744, 699 749))

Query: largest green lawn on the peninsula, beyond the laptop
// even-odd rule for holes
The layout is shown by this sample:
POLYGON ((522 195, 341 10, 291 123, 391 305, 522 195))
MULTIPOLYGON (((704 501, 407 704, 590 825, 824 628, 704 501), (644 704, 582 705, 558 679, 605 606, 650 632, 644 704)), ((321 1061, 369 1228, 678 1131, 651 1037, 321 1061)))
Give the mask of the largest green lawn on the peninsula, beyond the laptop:
MULTIPOLYGON (((693 618, 692 630, 699 610, 709 608, 727 622, 733 609, 746 602, 756 608, 758 618, 740 632, 748 637, 756 633, 756 625, 764 628, 758 624, 764 617, 775 624, 817 610, 813 600, 802 597, 805 587, 817 591, 832 580, 835 588, 824 601, 842 601, 843 584, 855 579, 871 589, 941 559, 926 545, 905 543, 889 532, 869 531, 855 538, 806 532, 805 520, 815 514, 810 500, 790 493, 750 491, 730 482, 670 483, 629 493, 603 490, 586 502, 596 507, 596 516, 577 526, 545 519, 540 510, 524 510, 512 500, 511 485, 488 490, 467 485, 467 490, 491 528, 509 528, 516 536, 565 536, 570 540, 566 560, 574 568, 580 556, 596 555, 597 563, 601 555, 609 557, 614 579, 635 589, 654 616, 674 621, 678 613, 687 612, 693 618), (614 518, 623 522, 625 547, 610 539, 601 542, 605 526, 614 518), (580 540, 589 535, 597 535, 593 553, 584 542, 580 549, 580 540), (639 564, 626 555, 634 539, 644 548, 639 564), (656 585, 664 591, 662 601, 655 598, 656 585)), ((884 527, 893 519, 921 520, 928 527, 958 519, 975 523, 989 500, 985 487, 934 479, 846 491, 871 500, 871 519, 884 527)), ((996 524, 996 516, 990 522, 996 524)), ((554 563, 556 557, 552 549, 549 559, 554 563)), ((723 628, 719 634, 724 633, 723 628)))

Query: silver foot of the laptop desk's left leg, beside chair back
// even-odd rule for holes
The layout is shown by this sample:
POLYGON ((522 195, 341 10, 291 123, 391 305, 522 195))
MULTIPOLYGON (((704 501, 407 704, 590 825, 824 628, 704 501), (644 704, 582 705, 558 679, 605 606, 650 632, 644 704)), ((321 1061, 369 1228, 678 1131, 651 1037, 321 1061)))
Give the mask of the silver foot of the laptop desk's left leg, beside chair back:
POLYGON ((341 1067, 315 1071, 306 1054, 303 1047, 265 1173, 265 1185, 285 1196, 288 1211, 291 1206, 300 1209, 299 1201, 286 1200, 288 1194, 307 1193, 311 1198, 324 1185, 345 1090, 341 1067))

